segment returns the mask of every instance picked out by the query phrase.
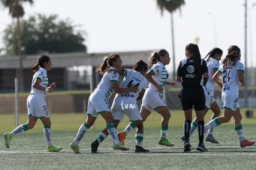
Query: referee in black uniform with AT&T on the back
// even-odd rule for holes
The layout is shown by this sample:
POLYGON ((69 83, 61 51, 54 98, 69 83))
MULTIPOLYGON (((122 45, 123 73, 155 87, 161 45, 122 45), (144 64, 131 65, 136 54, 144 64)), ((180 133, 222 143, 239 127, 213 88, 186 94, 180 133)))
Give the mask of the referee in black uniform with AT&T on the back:
POLYGON ((179 62, 177 68, 176 81, 182 85, 179 98, 184 110, 184 151, 190 151, 189 130, 192 121, 192 109, 198 120, 198 151, 207 151, 203 145, 203 131, 205 122, 203 115, 205 112, 205 94, 202 85, 206 85, 208 80, 208 68, 206 62, 201 59, 201 54, 197 45, 190 43, 186 46, 186 59, 179 62))

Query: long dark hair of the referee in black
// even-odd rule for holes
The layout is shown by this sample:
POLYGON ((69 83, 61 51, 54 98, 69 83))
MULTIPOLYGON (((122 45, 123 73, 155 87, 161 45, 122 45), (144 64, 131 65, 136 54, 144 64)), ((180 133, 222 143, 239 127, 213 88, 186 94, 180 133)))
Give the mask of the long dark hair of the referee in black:
POLYGON ((201 54, 198 48, 198 45, 190 43, 186 46, 186 51, 189 50, 190 53, 193 54, 194 63, 195 63, 195 72, 197 73, 198 77, 202 75, 202 67, 201 67, 201 54))

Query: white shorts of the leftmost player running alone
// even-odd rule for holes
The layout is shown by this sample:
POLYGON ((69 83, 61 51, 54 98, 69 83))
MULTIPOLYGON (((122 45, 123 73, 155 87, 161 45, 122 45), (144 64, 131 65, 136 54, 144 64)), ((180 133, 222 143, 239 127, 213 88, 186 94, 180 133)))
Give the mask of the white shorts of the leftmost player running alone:
POLYGON ((44 96, 29 95, 27 98, 28 116, 37 118, 49 117, 49 111, 44 96))

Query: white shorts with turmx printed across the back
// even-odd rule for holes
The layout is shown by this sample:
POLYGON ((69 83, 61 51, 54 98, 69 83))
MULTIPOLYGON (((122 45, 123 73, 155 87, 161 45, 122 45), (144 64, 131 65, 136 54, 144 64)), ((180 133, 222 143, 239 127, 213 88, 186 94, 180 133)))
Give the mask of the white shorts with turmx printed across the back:
POLYGON ((114 120, 122 122, 126 115, 129 117, 130 121, 142 120, 137 101, 126 100, 126 98, 121 96, 114 99, 111 111, 114 120))

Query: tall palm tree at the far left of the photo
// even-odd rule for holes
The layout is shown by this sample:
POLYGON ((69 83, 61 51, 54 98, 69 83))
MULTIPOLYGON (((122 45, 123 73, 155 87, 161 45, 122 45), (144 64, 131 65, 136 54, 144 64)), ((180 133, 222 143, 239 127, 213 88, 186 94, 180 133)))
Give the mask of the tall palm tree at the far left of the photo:
POLYGON ((2 0, 2 5, 4 7, 9 8, 9 14, 12 18, 17 19, 17 51, 19 54, 19 84, 20 84, 20 91, 24 91, 23 85, 23 66, 22 66, 22 52, 21 52, 21 41, 20 41, 20 17, 23 17, 25 14, 22 2, 29 2, 33 4, 33 0, 2 0))

